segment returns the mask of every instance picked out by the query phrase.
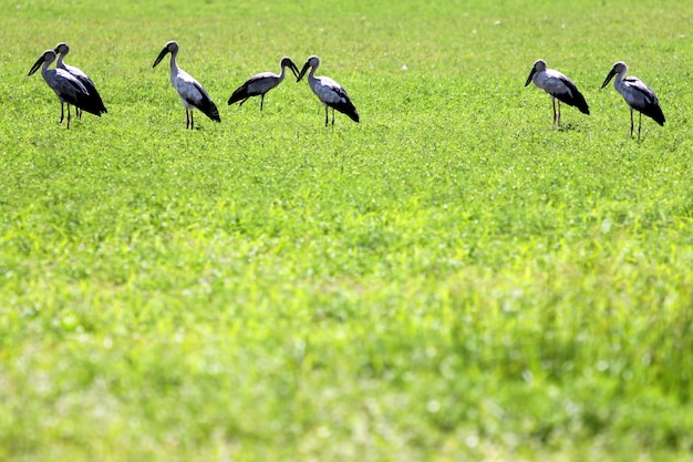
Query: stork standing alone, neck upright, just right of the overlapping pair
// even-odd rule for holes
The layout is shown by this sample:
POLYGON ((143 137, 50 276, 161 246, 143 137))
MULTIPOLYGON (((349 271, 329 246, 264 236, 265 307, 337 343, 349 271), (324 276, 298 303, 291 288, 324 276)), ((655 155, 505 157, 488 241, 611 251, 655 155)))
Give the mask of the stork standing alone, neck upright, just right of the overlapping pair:
POLYGON ((194 127, 195 120, 193 117, 193 110, 195 109, 213 121, 221 122, 219 111, 214 101, 209 97, 207 91, 205 91, 203 85, 190 74, 178 68, 176 63, 178 42, 175 40, 166 42, 162 52, 156 57, 154 64, 152 64, 152 68, 156 68, 167 53, 170 53, 170 84, 178 92, 178 96, 185 106, 185 127, 189 127, 190 130, 194 127))

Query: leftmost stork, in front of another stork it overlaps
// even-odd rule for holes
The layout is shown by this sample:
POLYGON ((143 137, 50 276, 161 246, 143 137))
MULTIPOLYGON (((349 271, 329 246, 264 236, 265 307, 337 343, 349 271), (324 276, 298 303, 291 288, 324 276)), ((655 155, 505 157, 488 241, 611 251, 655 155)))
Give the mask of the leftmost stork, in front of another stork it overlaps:
POLYGON ((45 50, 43 54, 41 54, 41 58, 31 66, 29 75, 32 75, 43 65, 41 75, 60 100, 60 123, 62 123, 65 115, 63 109, 65 103, 68 104, 68 129, 70 129, 70 104, 91 114, 101 116, 103 113, 101 100, 90 94, 86 88, 84 88, 74 75, 63 69, 49 69, 49 65, 55 61, 55 51, 45 50))

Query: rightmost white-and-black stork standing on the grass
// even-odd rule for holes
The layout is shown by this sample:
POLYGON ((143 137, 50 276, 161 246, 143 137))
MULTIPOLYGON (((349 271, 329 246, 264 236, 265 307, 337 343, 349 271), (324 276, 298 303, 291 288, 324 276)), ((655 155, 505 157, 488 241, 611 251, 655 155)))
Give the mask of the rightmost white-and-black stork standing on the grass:
POLYGON ((664 113, 660 106, 660 102, 656 95, 648 85, 645 85, 640 79, 634 76, 625 76, 628 72, 628 65, 623 61, 617 61, 611 68, 611 71, 604 79, 604 83, 601 84, 603 89, 609 81, 616 75, 613 81, 613 88, 617 92, 621 93, 623 100, 630 107, 630 135, 633 136, 633 109, 640 113, 640 120, 638 122, 638 140, 640 140, 640 130, 642 127, 642 114, 654 120, 661 126, 664 126, 664 113))

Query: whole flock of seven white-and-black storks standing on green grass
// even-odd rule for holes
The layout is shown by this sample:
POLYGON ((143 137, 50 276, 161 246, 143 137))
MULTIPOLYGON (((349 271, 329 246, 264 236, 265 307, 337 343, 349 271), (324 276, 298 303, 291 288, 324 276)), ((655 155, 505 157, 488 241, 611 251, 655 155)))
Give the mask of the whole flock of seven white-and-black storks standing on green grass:
MULTIPOLYGON (((209 97, 207 91, 190 74, 178 68, 176 58, 178 57, 178 42, 172 40, 164 45, 152 68, 156 68, 158 63, 170 53, 170 84, 176 89, 186 114, 186 129, 193 129, 195 124, 194 110, 200 111, 209 119, 221 122, 219 111, 209 97)), ((64 58, 70 52, 70 47, 61 42, 53 50, 46 50, 41 58, 33 64, 29 71, 29 75, 41 69, 41 75, 45 83, 55 92, 60 100, 60 123, 64 120, 64 105, 68 105, 68 129, 70 129, 70 105, 75 106, 75 115, 82 116, 82 111, 99 115, 108 112, 106 106, 96 91, 94 82, 80 69, 64 63, 64 58), (53 61, 58 59, 55 69, 50 69, 53 61)), ((346 91, 335 81, 327 76, 316 76, 316 70, 320 66, 320 58, 312 55, 308 58, 303 69, 299 72, 298 66, 290 58, 282 58, 279 74, 272 72, 262 72, 248 79, 240 85, 228 100, 228 104, 239 102, 239 107, 252 96, 260 96, 260 111, 265 103, 267 92, 279 85, 286 76, 287 68, 291 70, 300 82, 308 69, 308 84, 318 99, 324 104, 324 124, 329 124, 329 107, 332 107, 332 125, 334 125, 334 111, 339 111, 348 115, 354 122, 359 122, 359 113, 351 102, 346 91)), ((625 76, 628 66, 623 61, 618 61, 607 75, 602 83, 603 89, 616 76, 613 86, 623 96, 630 107, 630 135, 633 136, 633 110, 640 113, 638 123, 638 138, 642 129, 642 114, 653 119, 660 125, 664 125, 665 119, 656 95, 640 79, 625 76)), ((578 90, 576 84, 565 74, 547 69, 544 60, 535 61, 531 72, 527 78, 525 86, 534 82, 535 85, 551 95, 554 105, 554 124, 560 125, 560 103, 575 106, 583 114, 590 113, 589 105, 578 90), (556 102, 558 100, 558 103, 556 102), (558 111, 557 106, 558 105, 558 111)))

